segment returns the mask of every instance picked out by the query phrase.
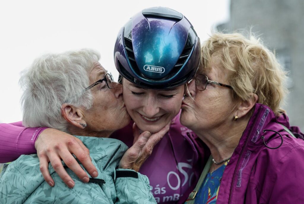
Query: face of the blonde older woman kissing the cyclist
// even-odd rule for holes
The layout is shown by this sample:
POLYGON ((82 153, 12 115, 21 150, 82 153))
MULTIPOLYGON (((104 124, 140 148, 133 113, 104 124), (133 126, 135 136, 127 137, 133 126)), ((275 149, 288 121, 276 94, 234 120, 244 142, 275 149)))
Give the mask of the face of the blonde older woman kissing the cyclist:
MULTIPOLYGON (((228 70, 222 67, 215 56, 203 74, 209 80, 229 85, 228 70)), ((237 109, 237 102, 232 98, 232 89, 208 84, 206 90, 200 91, 195 88, 195 80, 188 84, 188 89, 194 100, 190 97, 183 100, 181 124, 193 131, 207 131, 223 127, 227 121, 232 121, 237 109)))

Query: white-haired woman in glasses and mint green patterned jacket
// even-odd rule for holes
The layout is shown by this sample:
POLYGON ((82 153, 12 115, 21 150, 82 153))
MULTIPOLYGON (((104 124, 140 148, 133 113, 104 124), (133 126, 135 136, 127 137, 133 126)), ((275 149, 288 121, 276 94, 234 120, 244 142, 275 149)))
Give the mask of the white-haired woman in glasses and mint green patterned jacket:
POLYGON ((126 126, 130 117, 121 84, 112 81, 99 58, 99 53, 90 49, 47 54, 36 59, 20 80, 25 88, 23 125, 48 126, 79 135, 75 136, 79 143, 90 151, 94 176, 86 175, 82 181, 88 183, 81 182, 67 168, 73 160, 71 155, 63 165, 77 185, 68 188, 55 172, 56 166, 49 166, 56 181, 52 188, 40 173, 37 155, 22 155, 2 172, 0 203, 156 203, 148 178, 136 171, 169 125, 152 135, 147 131, 135 135, 137 140, 130 149, 108 138, 126 126))

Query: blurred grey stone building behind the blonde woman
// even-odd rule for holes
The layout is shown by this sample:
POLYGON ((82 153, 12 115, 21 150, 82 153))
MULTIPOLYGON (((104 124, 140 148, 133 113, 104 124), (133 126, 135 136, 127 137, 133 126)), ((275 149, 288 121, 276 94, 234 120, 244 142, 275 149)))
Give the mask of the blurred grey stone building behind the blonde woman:
POLYGON ((239 29, 258 35, 289 71, 290 94, 284 109, 290 123, 304 130, 304 1, 231 0, 230 21, 218 25, 223 32, 239 29))

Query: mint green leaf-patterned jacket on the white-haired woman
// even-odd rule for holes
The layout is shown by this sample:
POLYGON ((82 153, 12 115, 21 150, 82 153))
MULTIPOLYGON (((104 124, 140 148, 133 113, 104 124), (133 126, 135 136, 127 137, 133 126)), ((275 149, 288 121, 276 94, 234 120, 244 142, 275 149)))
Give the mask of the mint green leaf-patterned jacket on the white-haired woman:
MULTIPOLYGON (((129 169, 116 169, 128 147, 112 138, 76 136, 90 150, 98 177, 83 183, 69 169, 75 181, 70 189, 49 165, 55 181, 50 187, 39 169, 39 159, 34 155, 21 155, 3 169, 0 178, 0 204, 6 203, 156 203, 150 192, 147 176, 129 169)), ((63 165, 66 165, 63 162, 63 165)))

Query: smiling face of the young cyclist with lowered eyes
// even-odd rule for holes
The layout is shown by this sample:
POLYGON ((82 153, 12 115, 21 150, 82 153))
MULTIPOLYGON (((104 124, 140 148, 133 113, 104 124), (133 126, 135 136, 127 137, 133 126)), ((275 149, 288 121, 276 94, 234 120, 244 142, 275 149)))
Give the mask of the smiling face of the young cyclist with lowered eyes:
POLYGON ((184 86, 169 90, 141 88, 123 79, 123 99, 128 113, 142 131, 158 132, 181 109, 184 86))

